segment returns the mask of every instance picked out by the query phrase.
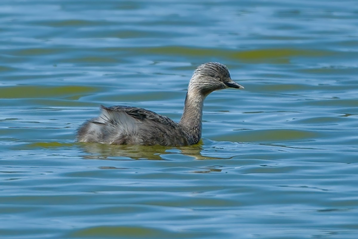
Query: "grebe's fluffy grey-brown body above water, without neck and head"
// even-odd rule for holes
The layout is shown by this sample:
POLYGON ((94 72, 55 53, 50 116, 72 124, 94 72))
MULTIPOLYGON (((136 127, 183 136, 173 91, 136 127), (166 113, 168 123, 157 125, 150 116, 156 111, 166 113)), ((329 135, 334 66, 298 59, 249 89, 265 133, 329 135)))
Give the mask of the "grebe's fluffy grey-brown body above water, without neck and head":
POLYGON ((84 123, 78 141, 105 144, 189 145, 199 140, 173 120, 150 110, 101 106, 100 117, 84 123))

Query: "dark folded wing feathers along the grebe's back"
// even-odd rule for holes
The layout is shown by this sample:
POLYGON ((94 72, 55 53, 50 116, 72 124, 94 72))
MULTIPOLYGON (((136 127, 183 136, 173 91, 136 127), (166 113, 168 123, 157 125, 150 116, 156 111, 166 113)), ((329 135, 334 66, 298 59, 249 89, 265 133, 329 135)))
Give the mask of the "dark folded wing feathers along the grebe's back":
POLYGON ((154 120, 157 121, 158 123, 165 124, 174 128, 178 126, 178 123, 175 123, 173 120, 169 119, 168 117, 159 115, 153 111, 142 109, 142 108, 123 106, 123 105, 116 105, 111 107, 106 107, 101 105, 101 108, 110 111, 122 111, 139 120, 145 120, 145 119, 154 120))

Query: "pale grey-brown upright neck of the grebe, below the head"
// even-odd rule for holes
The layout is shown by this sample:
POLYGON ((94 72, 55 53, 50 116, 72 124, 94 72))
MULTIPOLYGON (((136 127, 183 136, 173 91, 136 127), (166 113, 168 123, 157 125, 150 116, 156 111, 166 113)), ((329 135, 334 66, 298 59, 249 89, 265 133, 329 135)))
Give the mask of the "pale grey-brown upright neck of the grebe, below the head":
POLYGON ((189 140, 193 143, 198 143, 201 138, 204 99, 205 95, 189 87, 179 124, 189 134, 189 140))

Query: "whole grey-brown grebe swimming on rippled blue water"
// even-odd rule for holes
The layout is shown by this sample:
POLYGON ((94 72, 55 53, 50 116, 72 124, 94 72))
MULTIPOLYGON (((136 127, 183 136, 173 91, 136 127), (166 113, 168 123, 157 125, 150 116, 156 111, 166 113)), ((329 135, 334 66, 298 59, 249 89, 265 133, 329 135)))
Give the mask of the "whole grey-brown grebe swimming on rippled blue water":
POLYGON ((211 92, 227 88, 244 89, 231 80, 228 68, 218 62, 196 68, 178 123, 153 111, 132 106, 101 105, 101 114, 77 130, 78 142, 130 145, 187 146, 202 136, 203 102, 211 92))

